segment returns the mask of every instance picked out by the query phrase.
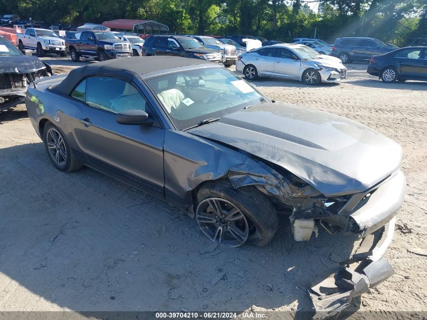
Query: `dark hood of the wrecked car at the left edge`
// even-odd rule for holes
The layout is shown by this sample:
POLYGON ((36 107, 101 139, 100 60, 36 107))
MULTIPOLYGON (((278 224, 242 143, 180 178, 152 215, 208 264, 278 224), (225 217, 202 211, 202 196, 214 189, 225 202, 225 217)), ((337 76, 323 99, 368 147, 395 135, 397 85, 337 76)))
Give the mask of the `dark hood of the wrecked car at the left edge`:
POLYGON ((37 57, 0 57, 0 73, 29 73, 45 67, 37 57))

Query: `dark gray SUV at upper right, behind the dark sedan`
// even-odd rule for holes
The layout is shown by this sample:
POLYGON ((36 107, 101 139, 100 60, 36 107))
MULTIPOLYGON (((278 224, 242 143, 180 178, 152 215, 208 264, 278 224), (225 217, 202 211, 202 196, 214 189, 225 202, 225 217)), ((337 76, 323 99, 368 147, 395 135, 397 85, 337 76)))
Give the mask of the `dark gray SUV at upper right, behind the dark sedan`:
POLYGON ((337 38, 331 56, 340 58, 343 63, 353 60, 369 60, 374 55, 382 55, 398 49, 375 38, 337 38))

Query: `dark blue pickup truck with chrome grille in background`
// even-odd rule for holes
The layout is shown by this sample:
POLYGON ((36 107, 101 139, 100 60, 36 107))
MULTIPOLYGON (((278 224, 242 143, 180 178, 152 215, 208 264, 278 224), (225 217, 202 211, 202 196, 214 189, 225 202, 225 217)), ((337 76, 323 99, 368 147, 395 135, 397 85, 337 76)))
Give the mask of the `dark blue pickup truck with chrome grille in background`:
POLYGON ((79 61, 80 57, 105 61, 132 56, 130 43, 109 31, 68 32, 65 45, 73 61, 79 61))

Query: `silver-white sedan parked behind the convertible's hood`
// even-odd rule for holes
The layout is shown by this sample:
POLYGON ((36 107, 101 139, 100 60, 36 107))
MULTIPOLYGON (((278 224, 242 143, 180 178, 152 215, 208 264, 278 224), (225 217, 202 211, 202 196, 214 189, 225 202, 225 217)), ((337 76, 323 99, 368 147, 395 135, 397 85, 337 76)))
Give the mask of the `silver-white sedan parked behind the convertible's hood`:
POLYGON ((259 76, 294 79, 309 85, 333 83, 346 78, 340 59, 320 55, 304 44, 280 43, 253 49, 239 56, 236 71, 248 80, 259 76))

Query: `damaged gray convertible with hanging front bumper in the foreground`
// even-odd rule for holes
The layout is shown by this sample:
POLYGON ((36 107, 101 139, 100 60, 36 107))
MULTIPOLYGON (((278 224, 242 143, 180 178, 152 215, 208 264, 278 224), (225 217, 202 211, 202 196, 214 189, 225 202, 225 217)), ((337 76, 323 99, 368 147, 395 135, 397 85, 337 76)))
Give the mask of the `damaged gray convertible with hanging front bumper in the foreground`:
POLYGON ((393 273, 382 255, 405 195, 402 150, 361 124, 271 101, 223 67, 177 57, 41 79, 26 105, 56 168, 85 164, 163 198, 194 213, 212 241, 264 246, 278 214, 297 241, 319 227, 363 237, 310 289, 316 318, 393 273))

